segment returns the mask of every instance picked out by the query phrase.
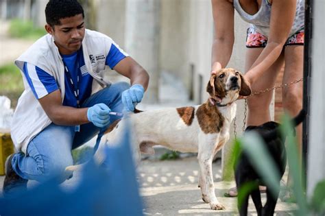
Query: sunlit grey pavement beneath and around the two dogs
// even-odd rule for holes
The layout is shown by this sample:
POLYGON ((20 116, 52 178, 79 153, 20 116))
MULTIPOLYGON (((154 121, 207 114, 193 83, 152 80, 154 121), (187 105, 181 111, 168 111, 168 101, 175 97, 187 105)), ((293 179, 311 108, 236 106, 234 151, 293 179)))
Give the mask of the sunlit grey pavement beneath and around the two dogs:
MULTIPOLYGON (((145 203, 144 215, 238 215, 237 198, 224 197, 223 194, 234 186, 234 182, 221 181, 221 163, 213 163, 215 193, 218 200, 226 206, 224 211, 210 210, 210 206, 201 199, 197 187, 199 167, 195 156, 179 160, 161 161, 157 158, 141 161, 139 165, 139 184, 141 196, 145 203)), ((62 184, 73 189, 80 179, 74 174, 71 180, 62 184)), ((0 177, 3 184, 3 176, 0 177)), ((35 187, 35 182, 29 182, 29 187, 35 187)), ((0 189, 0 193, 1 193, 0 189)), ((263 195, 265 201, 265 195, 263 195)), ((278 201, 276 215, 293 215, 291 210, 295 204, 278 201)), ((250 200, 249 215, 256 215, 254 205, 250 200)))

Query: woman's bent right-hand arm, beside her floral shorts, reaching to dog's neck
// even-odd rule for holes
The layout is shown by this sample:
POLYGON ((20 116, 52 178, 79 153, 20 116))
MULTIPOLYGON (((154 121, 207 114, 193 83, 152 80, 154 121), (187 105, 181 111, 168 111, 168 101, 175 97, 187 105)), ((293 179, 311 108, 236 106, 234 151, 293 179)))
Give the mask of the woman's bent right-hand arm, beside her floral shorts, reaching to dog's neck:
POLYGON ((280 56, 289 37, 290 29, 296 14, 296 0, 273 0, 270 20, 270 31, 267 45, 245 74, 245 78, 254 83, 263 75, 280 56))

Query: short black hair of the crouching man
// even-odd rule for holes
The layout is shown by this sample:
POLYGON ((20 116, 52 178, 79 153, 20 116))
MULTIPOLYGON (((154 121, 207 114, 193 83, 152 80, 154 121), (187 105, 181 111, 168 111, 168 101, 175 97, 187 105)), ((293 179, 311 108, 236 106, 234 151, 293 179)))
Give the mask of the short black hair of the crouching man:
POLYGON ((49 0, 45 8, 45 17, 47 24, 61 25, 60 19, 82 14, 84 18, 84 9, 77 0, 49 0))

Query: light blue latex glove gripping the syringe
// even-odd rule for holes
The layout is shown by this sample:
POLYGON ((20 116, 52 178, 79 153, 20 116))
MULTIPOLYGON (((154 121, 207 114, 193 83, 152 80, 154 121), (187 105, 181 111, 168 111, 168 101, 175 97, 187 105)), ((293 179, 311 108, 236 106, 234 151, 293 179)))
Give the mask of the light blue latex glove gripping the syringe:
POLYGON ((87 118, 99 128, 104 128, 110 123, 110 108, 106 104, 95 104, 88 108, 87 118))

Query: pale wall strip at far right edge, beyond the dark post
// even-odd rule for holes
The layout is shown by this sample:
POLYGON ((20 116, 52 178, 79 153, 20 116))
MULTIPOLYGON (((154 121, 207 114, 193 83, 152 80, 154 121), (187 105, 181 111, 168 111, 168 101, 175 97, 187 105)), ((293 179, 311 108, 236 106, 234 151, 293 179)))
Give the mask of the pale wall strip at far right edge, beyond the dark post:
POLYGON ((313 1, 313 38, 311 40, 311 88, 309 151, 307 167, 307 193, 313 193, 315 185, 325 180, 325 95, 324 95, 324 0, 313 1))

